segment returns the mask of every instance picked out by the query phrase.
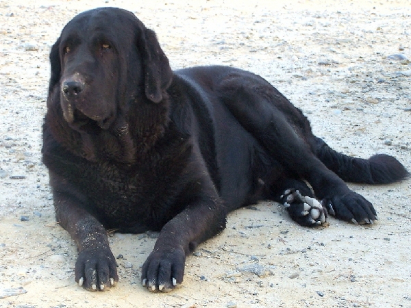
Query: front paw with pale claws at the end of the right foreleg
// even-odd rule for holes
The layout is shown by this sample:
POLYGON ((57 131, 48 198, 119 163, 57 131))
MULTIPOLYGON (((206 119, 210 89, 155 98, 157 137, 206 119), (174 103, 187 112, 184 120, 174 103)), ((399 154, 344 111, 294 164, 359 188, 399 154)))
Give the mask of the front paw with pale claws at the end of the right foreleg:
POLYGON ((141 283, 151 292, 169 292, 183 282, 186 254, 179 248, 155 248, 142 266, 141 283))

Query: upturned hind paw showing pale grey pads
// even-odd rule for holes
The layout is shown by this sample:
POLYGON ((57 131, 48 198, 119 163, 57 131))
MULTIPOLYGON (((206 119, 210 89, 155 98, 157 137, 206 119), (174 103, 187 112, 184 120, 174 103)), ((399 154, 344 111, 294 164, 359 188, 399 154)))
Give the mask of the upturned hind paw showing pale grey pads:
POLYGON ((286 190, 281 199, 292 220, 302 226, 313 227, 327 221, 327 211, 316 198, 301 196, 298 190, 286 190))

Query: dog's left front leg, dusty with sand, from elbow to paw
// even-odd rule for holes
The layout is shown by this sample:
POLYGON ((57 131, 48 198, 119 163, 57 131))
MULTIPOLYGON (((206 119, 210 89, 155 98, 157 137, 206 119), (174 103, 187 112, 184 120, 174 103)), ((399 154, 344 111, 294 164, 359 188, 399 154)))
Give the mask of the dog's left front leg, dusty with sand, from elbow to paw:
POLYGON ((119 276, 103 225, 81 207, 84 201, 78 195, 55 189, 53 197, 57 221, 70 233, 79 249, 75 281, 89 291, 113 287, 119 276))

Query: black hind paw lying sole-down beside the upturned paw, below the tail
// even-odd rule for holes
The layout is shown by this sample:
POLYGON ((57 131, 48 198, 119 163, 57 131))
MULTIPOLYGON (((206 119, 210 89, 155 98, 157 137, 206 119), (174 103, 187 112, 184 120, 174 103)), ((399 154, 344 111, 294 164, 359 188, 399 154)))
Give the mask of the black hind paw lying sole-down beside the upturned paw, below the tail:
POLYGON ((341 220, 355 224, 373 224, 378 220, 373 205, 356 192, 350 191, 343 195, 325 198, 321 203, 325 205, 329 214, 341 220))

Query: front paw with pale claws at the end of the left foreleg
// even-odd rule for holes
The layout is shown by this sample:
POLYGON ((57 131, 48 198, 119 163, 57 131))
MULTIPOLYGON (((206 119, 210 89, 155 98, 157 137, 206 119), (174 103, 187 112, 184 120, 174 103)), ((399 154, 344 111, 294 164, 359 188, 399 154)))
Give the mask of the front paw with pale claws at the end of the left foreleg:
POLYGON ((75 281, 88 291, 105 291, 119 281, 117 264, 109 247, 84 248, 75 264, 75 281))

